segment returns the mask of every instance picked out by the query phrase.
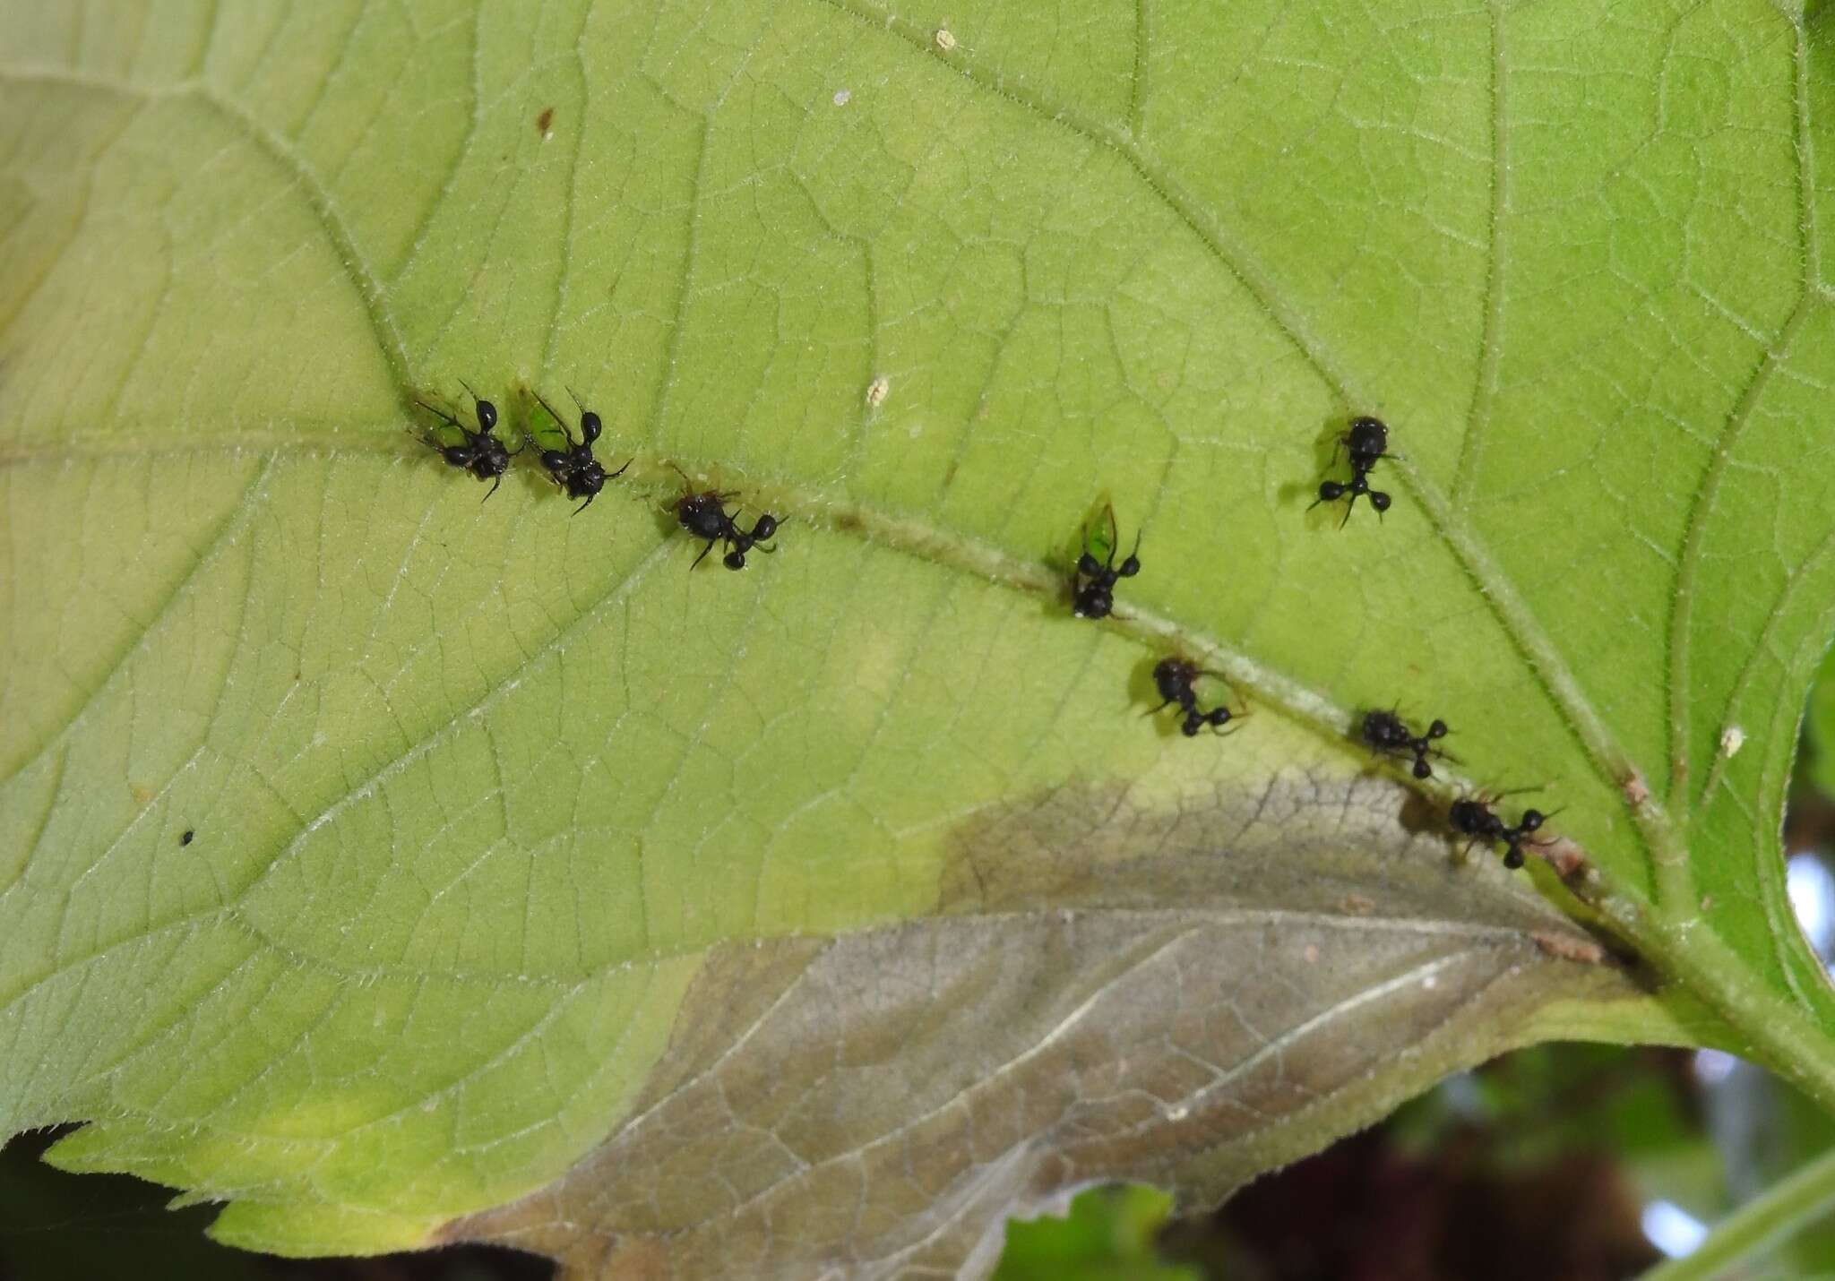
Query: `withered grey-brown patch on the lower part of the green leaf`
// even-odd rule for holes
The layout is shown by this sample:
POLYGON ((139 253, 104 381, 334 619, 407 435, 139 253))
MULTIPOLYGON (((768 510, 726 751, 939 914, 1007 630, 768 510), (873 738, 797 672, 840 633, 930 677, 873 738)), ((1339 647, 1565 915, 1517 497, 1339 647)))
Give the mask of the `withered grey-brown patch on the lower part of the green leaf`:
POLYGON ((578 1275, 978 1275, 1011 1213, 1105 1178, 1215 1204, 1573 1031, 1556 1002, 1644 1000, 1492 868, 1391 844, 1387 782, 1215 802, 1059 793, 962 833, 938 919, 716 954, 615 1132, 446 1235, 578 1275))

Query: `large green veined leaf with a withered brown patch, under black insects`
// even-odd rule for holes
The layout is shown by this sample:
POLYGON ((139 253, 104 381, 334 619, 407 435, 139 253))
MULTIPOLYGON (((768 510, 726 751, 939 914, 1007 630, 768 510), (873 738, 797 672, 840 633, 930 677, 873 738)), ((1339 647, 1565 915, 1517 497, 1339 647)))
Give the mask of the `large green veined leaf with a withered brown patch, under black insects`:
POLYGON ((266 1250, 943 1275, 1538 1037, 1835 1099, 1776 850, 1835 626, 1817 17, 0 33, 0 1134, 90 1121, 55 1160, 266 1250), (635 464, 481 503, 407 431, 461 380, 635 464), (1338 529, 1349 413, 1400 457, 1338 529), (690 573, 670 464, 778 551, 690 573), (1145 569, 1090 624, 1105 501, 1145 569), (1141 716, 1173 648, 1239 732, 1141 716), (1345 741, 1393 703, 1560 808, 1534 879, 1345 741))

